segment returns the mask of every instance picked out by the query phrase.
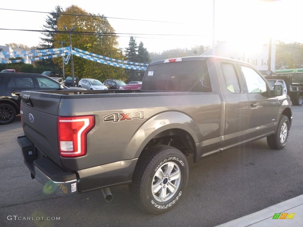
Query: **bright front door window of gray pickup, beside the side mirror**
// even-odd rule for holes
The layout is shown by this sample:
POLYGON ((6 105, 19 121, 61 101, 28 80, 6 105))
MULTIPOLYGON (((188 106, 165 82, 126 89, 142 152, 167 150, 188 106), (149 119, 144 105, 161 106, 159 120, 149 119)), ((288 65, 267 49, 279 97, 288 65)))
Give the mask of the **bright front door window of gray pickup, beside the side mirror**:
POLYGON ((259 93, 266 96, 266 82, 261 78, 261 76, 249 67, 241 66, 241 70, 246 81, 248 93, 259 93))

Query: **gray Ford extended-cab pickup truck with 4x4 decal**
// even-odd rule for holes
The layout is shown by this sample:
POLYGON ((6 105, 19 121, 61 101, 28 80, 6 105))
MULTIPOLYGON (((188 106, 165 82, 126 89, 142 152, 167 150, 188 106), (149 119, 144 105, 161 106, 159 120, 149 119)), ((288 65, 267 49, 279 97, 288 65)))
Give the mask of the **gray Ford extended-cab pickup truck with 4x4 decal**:
POLYGON ((32 178, 46 193, 73 195, 129 184, 139 208, 175 206, 193 162, 267 137, 285 147, 290 98, 250 64, 218 57, 156 61, 141 90, 21 93, 18 137, 32 178))

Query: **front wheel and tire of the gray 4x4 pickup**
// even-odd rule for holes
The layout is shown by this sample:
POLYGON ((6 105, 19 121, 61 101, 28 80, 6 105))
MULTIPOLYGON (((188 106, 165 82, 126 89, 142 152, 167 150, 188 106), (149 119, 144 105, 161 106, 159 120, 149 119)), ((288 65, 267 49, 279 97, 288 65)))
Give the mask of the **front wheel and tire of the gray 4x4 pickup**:
POLYGON ((290 132, 289 119, 285 115, 281 115, 277 132, 267 137, 267 144, 275 150, 284 148, 287 144, 290 132))

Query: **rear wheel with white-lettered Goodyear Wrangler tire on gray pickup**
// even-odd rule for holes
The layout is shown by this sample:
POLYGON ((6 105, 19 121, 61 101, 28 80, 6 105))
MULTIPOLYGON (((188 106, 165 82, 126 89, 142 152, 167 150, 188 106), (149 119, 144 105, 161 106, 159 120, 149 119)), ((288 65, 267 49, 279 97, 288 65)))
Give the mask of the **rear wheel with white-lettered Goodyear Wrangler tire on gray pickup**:
POLYGON ((130 191, 140 209, 161 214, 177 204, 187 183, 185 155, 174 147, 157 145, 139 157, 130 191))

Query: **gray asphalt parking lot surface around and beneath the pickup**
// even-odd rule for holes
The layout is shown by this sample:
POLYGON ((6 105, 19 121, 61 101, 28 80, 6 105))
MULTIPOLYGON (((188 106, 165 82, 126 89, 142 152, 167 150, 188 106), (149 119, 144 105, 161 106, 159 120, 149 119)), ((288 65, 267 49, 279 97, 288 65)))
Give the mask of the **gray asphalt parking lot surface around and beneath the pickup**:
MULTIPOLYGON (((23 163, 17 142, 23 130, 17 116, 0 126, 0 225, 213 227, 250 215, 303 194, 302 113, 303 107, 293 107, 290 138, 283 150, 271 150, 261 139, 198 163, 188 157, 190 178, 184 196, 162 215, 138 210, 128 186, 112 188, 112 202, 105 202, 100 190, 70 197, 45 194, 23 163)), ((302 216, 271 221, 293 226, 288 221, 302 216)))

